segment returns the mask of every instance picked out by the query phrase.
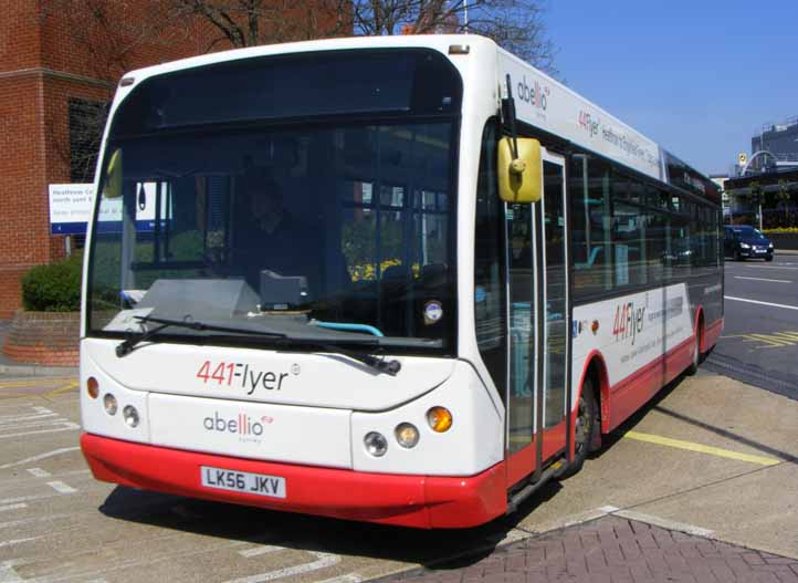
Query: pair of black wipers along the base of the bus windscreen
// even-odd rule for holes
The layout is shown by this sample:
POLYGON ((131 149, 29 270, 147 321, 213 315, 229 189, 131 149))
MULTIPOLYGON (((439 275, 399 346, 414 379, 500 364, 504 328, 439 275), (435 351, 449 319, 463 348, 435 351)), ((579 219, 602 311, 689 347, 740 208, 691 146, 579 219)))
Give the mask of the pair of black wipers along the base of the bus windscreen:
MULTIPOLYGON (((160 324, 159 326, 156 326, 151 330, 148 330, 147 332, 141 332, 135 336, 130 336, 127 340, 120 342, 116 346, 116 355, 122 358, 123 356, 127 356, 130 354, 134 350, 134 347, 141 343, 146 342, 156 334, 158 334, 161 330, 166 327, 188 327, 190 330, 199 330, 199 331, 210 331, 210 332, 229 332, 232 334, 252 334, 256 336, 265 336, 270 339, 274 339, 280 341, 281 343, 285 344, 300 344, 304 346, 315 346, 317 348, 321 348, 325 352, 329 352, 333 354, 340 354, 342 356, 347 356, 351 358, 353 361, 357 361, 359 363, 365 364, 366 366, 374 368, 377 372, 386 373, 390 376, 396 376, 396 374, 401 369, 401 363, 397 360, 392 361, 386 361, 384 358, 380 358, 378 356, 375 356, 372 354, 360 354, 359 352, 348 351, 346 348, 342 348, 337 344, 323 341, 323 340, 315 340, 315 339, 297 339, 297 337, 291 337, 287 334, 283 332, 269 332, 265 330, 251 330, 245 327, 231 327, 231 326, 220 326, 216 324, 204 324, 202 322, 193 322, 193 321, 187 321, 187 320, 168 320, 165 317, 153 317, 147 315, 137 315, 134 316, 136 320, 138 320, 141 323, 153 322, 155 324, 160 324)), ((346 344, 357 344, 361 346, 379 346, 379 342, 376 339, 346 339, 346 344)))

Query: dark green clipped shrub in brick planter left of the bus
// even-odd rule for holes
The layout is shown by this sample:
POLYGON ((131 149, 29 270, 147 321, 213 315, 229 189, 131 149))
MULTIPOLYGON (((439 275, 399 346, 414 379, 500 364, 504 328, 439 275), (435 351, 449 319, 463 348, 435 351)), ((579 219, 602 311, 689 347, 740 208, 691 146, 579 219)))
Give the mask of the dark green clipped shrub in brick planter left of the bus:
POLYGON ((81 309, 80 254, 36 266, 22 278, 22 305, 35 312, 76 312, 81 309))

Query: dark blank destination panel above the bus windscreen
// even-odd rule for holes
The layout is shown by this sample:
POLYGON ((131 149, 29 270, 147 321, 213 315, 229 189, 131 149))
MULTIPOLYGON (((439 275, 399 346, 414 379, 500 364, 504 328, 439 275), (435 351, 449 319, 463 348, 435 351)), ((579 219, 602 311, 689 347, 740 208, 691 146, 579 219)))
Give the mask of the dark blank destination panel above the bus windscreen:
POLYGON ((461 94, 454 66, 431 50, 241 59, 144 81, 119 106, 113 133, 335 114, 453 113, 461 94))

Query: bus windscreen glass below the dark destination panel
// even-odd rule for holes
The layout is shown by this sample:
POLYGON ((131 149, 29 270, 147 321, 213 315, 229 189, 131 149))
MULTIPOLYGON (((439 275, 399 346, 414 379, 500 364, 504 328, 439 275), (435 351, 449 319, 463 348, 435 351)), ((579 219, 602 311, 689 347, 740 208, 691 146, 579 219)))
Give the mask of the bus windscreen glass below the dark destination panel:
POLYGON ((99 201, 91 330, 138 330, 133 314, 443 347, 452 134, 365 123, 109 144, 122 194, 99 201))

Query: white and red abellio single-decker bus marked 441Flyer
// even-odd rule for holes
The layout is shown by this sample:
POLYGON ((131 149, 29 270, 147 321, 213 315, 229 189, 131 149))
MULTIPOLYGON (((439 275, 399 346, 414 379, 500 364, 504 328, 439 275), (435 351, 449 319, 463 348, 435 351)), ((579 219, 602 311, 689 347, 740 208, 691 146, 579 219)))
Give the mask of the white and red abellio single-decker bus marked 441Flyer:
POLYGON ((81 444, 109 482, 480 524, 723 325, 713 184, 480 37, 134 71, 97 192, 81 444))

